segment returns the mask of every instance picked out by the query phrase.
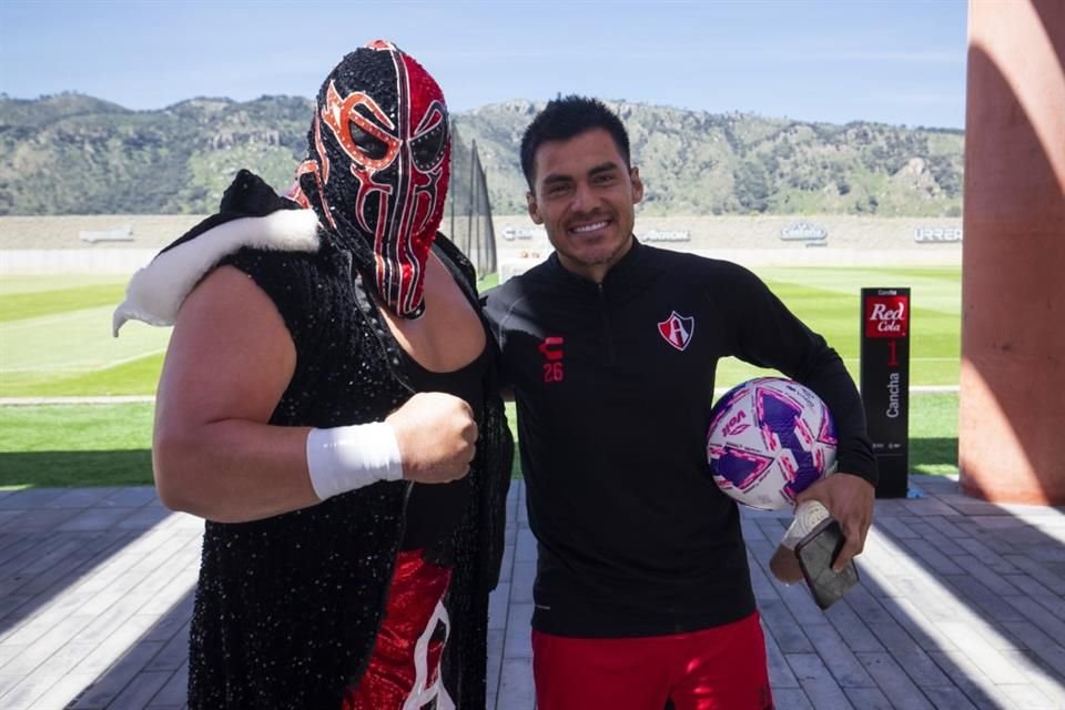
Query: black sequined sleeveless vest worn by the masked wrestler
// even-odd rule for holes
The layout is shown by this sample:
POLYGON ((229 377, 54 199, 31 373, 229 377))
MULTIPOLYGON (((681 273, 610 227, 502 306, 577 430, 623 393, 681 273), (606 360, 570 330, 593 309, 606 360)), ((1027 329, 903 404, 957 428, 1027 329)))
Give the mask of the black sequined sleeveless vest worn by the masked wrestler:
MULTIPOLYGON (((473 267, 443 236, 434 245, 475 297, 473 267)), ((412 395, 397 344, 352 256, 244 248, 227 257, 273 300, 296 369, 271 418, 332 427, 383 419, 412 395)), ((488 337, 488 345, 493 341, 488 337)), ((452 635, 445 686, 460 709, 484 708, 488 594, 503 552, 513 442, 486 382, 473 495, 455 532, 445 606, 452 635)), ((206 523, 190 632, 189 707, 338 709, 362 677, 382 620, 408 484, 377 483, 321 505, 245 524, 206 523)))

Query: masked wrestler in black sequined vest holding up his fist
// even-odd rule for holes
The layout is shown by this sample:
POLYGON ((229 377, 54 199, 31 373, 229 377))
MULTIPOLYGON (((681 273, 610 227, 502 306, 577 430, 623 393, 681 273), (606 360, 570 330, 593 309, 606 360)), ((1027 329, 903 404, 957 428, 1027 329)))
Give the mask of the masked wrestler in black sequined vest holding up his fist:
POLYGON ((511 442, 469 262, 437 233, 439 87, 373 42, 287 197, 241 171, 115 312, 173 324, 162 501, 205 518, 190 708, 479 708, 511 442))

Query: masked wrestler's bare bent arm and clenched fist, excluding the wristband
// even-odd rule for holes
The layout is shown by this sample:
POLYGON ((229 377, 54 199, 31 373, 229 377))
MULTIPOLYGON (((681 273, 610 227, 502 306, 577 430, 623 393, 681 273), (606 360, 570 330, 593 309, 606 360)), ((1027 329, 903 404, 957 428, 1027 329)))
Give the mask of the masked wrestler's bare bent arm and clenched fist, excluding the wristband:
MULTIPOLYGON (((266 424, 295 362, 281 314, 245 274, 223 266, 196 286, 178 314, 156 397, 153 463, 168 507, 232 523, 320 503, 310 428, 266 424)), ((460 399, 416 395, 388 423, 405 478, 453 480, 468 470, 476 425, 460 399)))

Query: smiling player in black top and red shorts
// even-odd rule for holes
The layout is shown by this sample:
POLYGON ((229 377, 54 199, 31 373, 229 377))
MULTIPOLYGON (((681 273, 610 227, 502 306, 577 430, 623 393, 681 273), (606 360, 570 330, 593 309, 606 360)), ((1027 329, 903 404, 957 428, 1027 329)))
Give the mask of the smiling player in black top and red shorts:
POLYGON ((801 499, 872 521, 875 460, 843 363, 752 273, 640 244, 629 140, 601 102, 551 101, 521 141, 528 211, 555 252, 486 294, 518 413, 540 710, 772 707, 737 504, 704 442, 720 358, 812 388, 839 473, 801 499))

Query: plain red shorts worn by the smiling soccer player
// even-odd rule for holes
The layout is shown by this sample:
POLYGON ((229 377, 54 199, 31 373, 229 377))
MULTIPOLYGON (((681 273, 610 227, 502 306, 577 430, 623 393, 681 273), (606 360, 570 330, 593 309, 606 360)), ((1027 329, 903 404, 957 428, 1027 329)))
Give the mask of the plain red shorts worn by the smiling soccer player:
POLYGON ((758 613, 670 636, 585 639, 532 631, 538 710, 771 710, 758 613))

